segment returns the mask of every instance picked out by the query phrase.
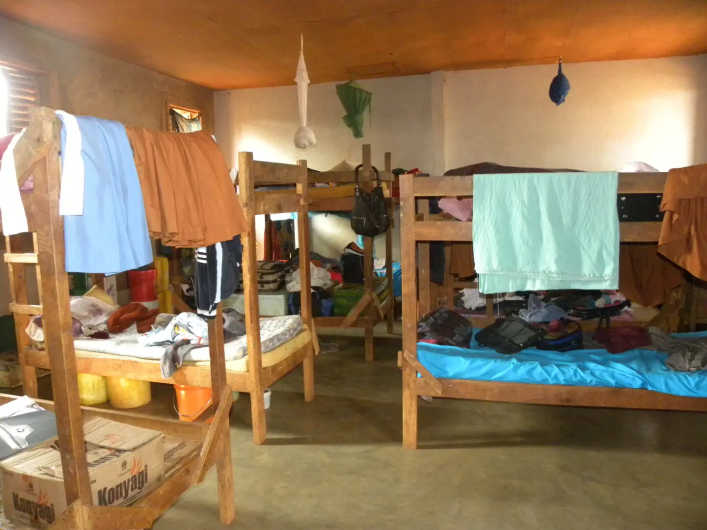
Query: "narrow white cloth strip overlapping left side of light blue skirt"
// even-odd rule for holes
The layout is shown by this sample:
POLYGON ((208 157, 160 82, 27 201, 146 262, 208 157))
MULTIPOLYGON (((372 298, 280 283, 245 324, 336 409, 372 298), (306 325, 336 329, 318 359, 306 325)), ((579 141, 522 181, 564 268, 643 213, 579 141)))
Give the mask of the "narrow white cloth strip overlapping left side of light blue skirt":
POLYGON ((57 110, 62 117, 66 145, 62 153, 62 187, 59 189, 59 215, 83 216, 83 181, 85 170, 81 156, 81 130, 73 114, 57 110))

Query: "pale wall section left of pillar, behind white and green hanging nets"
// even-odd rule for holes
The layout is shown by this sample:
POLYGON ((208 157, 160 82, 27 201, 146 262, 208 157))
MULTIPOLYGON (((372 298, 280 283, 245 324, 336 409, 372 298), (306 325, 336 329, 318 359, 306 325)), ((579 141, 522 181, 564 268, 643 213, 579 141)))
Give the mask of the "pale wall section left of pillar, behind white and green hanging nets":
MULTIPOLYGON (((310 85, 307 124, 317 145, 301 151, 292 143, 299 126, 295 86, 225 90, 215 95, 216 139, 231 167, 238 167, 238 151, 252 151, 256 160, 294 163, 304 158, 310 167, 328 170, 342 160, 361 162, 361 146, 370 143, 373 165, 383 167, 384 153, 392 153, 393 167, 431 168, 430 76, 409 76, 361 81, 373 93, 370 121, 366 116, 363 139, 354 139, 344 125, 345 112, 335 83, 310 85)), ((441 110, 439 111, 441 112, 441 110)), ((398 224, 393 232, 393 259, 399 260, 398 224)), ((335 257, 356 234, 339 216, 313 216, 311 247, 335 257)), ((375 240, 375 252, 385 257, 385 237, 375 240)))

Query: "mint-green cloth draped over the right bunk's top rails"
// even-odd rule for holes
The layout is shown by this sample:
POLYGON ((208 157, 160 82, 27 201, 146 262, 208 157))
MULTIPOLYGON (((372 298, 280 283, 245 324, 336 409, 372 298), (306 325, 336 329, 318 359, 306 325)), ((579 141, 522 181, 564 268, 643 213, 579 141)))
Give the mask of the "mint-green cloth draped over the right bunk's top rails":
POLYGON ((617 289, 617 173, 474 175, 481 293, 617 289))

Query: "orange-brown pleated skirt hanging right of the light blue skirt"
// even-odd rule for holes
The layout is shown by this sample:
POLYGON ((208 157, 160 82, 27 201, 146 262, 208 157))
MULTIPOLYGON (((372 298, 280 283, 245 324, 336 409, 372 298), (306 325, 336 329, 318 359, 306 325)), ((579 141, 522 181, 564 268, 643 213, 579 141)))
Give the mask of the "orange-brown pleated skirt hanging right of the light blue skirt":
POLYGON ((151 237, 208 247, 247 230, 226 160, 210 134, 126 127, 151 237))

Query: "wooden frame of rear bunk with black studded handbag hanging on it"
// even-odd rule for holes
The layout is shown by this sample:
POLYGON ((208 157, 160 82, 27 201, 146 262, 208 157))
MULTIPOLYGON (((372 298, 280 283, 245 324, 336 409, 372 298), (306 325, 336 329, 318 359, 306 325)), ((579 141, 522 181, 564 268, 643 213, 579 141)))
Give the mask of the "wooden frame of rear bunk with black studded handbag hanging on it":
MULTIPOLYGON (((384 194, 388 205, 388 214, 390 220, 394 218, 396 201, 392 197, 392 184, 395 182, 395 175, 392 174, 392 157, 390 153, 385 153, 385 167, 380 171, 380 180, 384 183, 384 194)), ((358 172, 361 187, 370 189, 375 185, 375 173, 371 169, 370 145, 363 145, 363 168, 358 172)), ((335 182, 337 184, 354 184, 356 182, 354 171, 322 171, 310 172, 308 174, 309 184, 328 184, 335 182)), ((354 207, 354 196, 336 197, 336 198, 316 198, 312 194, 323 194, 327 188, 310 188, 310 208, 309 211, 345 211, 351 212, 354 207), (317 190, 312 192, 312 190, 317 190)), ((275 192, 259 192, 275 193, 275 192)), ((275 213, 275 212, 268 212, 275 213)), ((298 218, 299 219, 299 218, 298 218)), ((302 245, 302 230, 300 233, 300 248, 302 245)), ((266 230, 266 237, 268 237, 266 230)), ((268 243, 266 242, 266 246, 268 243)), ((301 256, 301 253, 300 253, 301 256)), ((302 261, 300 261, 302 263, 302 261)), ((346 317, 314 317, 314 323, 317 329, 322 328, 343 328, 348 329, 363 328, 365 329, 365 351, 366 360, 373 360, 373 328, 378 322, 387 319, 387 331, 392 333, 395 307, 395 295, 393 291, 393 264, 392 264, 392 226, 391 229, 385 232, 385 278, 387 278, 387 301, 382 306, 378 302, 378 297, 373 290, 373 239, 371 237, 363 238, 363 297, 351 309, 346 317), (366 312, 366 314, 363 314, 366 312)), ((301 292, 301 291, 300 291, 301 292)))

